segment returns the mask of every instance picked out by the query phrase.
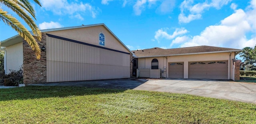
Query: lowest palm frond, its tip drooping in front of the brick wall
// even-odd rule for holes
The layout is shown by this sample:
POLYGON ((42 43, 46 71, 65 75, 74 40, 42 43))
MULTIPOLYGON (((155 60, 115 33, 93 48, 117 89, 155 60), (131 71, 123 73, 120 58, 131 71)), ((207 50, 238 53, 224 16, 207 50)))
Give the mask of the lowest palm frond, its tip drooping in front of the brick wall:
POLYGON ((40 47, 38 46, 38 43, 34 39, 34 37, 30 34, 30 32, 18 21, 15 17, 12 15, 8 14, 6 11, 2 11, 0 9, 0 20, 2 20, 4 23, 12 27, 15 31, 18 32, 18 34, 26 40, 28 45, 34 50, 36 54, 36 58, 39 60, 41 57, 41 50, 40 47))

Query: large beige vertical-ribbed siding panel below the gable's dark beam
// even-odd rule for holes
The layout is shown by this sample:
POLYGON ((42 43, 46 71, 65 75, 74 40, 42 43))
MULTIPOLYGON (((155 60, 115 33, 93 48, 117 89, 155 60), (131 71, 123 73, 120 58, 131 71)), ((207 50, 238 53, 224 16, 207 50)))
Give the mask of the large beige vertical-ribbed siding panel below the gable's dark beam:
POLYGON ((46 37, 47 82, 130 77, 130 55, 46 37))

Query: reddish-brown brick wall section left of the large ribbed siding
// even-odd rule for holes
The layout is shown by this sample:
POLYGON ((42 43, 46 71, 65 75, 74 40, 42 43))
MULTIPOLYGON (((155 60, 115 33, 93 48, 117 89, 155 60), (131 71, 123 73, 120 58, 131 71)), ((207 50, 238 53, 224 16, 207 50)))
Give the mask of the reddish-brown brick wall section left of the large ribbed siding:
MULTIPOLYGON (((39 47, 46 47, 46 34, 42 33, 41 41, 36 40, 39 47)), ((28 43, 23 40, 23 81, 24 84, 46 83, 46 51, 41 58, 36 55, 28 43)))

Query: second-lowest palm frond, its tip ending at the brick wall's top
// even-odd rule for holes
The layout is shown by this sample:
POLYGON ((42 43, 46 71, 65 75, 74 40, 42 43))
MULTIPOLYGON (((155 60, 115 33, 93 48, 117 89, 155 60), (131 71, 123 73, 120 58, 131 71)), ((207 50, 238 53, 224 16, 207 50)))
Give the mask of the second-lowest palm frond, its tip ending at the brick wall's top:
POLYGON ((34 36, 38 39, 38 41, 41 41, 42 34, 40 29, 37 27, 34 20, 14 1, 10 0, 2 0, 3 4, 13 10, 17 15, 19 15, 32 29, 32 32, 34 33, 34 36))

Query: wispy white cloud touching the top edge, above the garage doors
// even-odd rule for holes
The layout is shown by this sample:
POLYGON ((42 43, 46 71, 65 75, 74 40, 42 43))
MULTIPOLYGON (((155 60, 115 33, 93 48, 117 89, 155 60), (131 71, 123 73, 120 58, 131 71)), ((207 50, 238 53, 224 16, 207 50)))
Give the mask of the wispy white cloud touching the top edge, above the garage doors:
POLYGON ((190 21, 200 19, 205 10, 208 10, 211 7, 220 9, 230 1, 231 0, 212 0, 211 3, 207 3, 206 1, 193 6, 193 0, 184 0, 180 4, 181 13, 178 16, 179 23, 189 23, 190 21))

